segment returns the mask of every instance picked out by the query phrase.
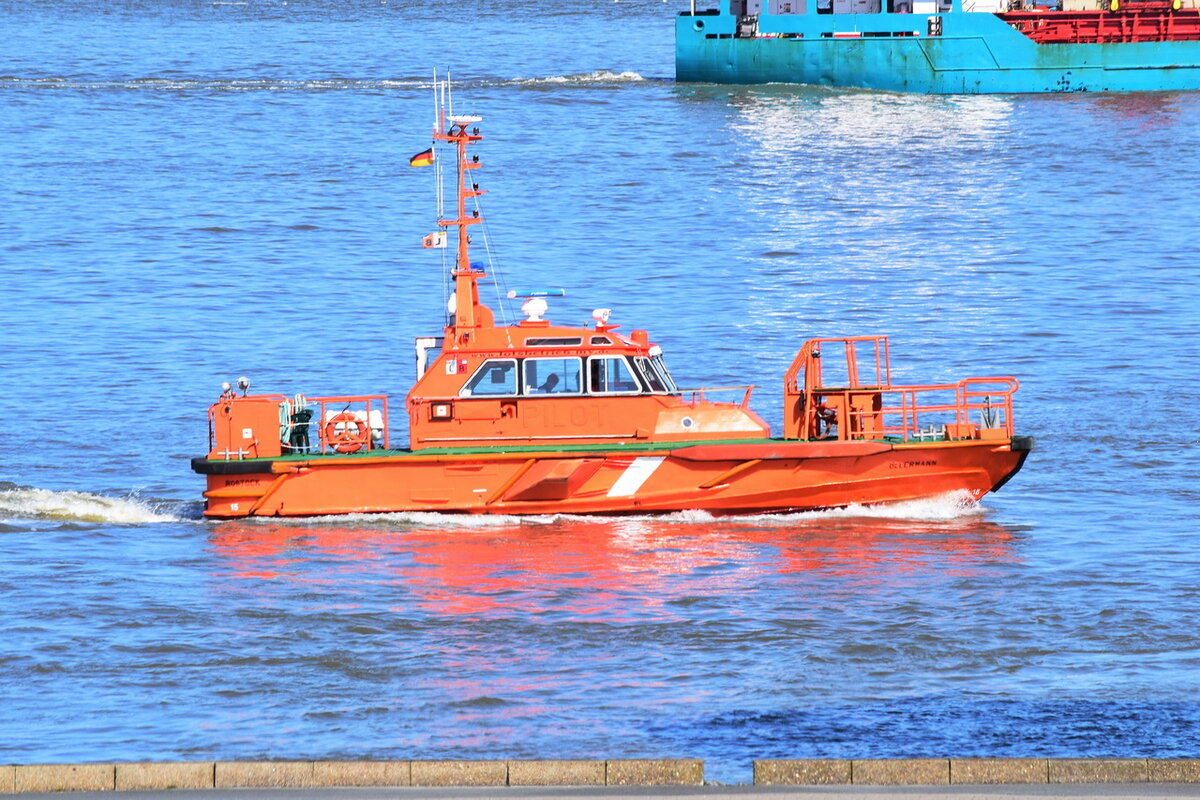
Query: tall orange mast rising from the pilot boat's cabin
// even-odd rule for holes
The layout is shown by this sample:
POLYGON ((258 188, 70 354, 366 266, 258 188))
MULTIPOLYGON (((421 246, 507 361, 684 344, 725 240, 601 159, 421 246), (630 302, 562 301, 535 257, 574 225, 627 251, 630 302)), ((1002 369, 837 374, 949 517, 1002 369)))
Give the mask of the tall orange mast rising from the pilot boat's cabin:
POLYGON ((442 228, 456 228, 458 234, 458 252, 455 259, 454 277, 454 323, 452 336, 448 336, 448 344, 463 343, 470 338, 472 329, 491 327, 493 325, 492 311, 479 302, 479 278, 486 272, 474 269, 470 265, 470 225, 482 222, 479 211, 467 211, 467 199, 476 198, 484 192, 468 179, 470 170, 479 169, 479 156, 468 158, 467 148, 482 140, 475 122, 482 121, 480 116, 464 116, 451 114, 448 116, 445 108, 438 110, 438 127, 433 133, 434 142, 445 142, 454 145, 456 154, 456 201, 455 211, 458 215, 454 219, 438 219, 442 228))

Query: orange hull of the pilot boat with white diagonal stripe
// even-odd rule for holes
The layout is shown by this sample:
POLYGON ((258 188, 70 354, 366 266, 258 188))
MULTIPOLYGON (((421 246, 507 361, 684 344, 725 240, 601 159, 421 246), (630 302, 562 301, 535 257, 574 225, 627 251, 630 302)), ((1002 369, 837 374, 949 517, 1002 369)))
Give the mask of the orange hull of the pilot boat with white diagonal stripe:
POLYGON ((670 450, 409 452, 248 461, 197 458, 205 516, 304 517, 442 511, 714 515, 980 498, 1024 464, 1032 440, 695 444, 670 450))

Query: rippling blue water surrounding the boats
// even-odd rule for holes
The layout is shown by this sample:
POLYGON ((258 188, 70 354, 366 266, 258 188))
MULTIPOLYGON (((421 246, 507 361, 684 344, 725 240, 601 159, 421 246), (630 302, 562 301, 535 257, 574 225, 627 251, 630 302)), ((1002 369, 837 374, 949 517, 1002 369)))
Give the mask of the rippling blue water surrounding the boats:
POLYGON ((676 85, 682 8, 0 6, 0 762, 1198 754, 1200 96, 676 85), (776 431, 804 338, 889 333, 899 381, 1020 378, 1024 471, 874 513, 199 519, 222 380, 402 408, 434 66, 551 319, 611 307, 776 431))

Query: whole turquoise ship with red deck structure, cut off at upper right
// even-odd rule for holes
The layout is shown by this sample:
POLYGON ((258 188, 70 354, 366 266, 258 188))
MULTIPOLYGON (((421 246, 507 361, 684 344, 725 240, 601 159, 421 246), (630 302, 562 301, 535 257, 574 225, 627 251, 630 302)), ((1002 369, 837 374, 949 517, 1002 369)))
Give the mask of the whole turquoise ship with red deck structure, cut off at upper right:
POLYGON ((676 20, 676 79, 937 95, 1200 89, 1195 0, 1103 1, 694 1, 676 20))

